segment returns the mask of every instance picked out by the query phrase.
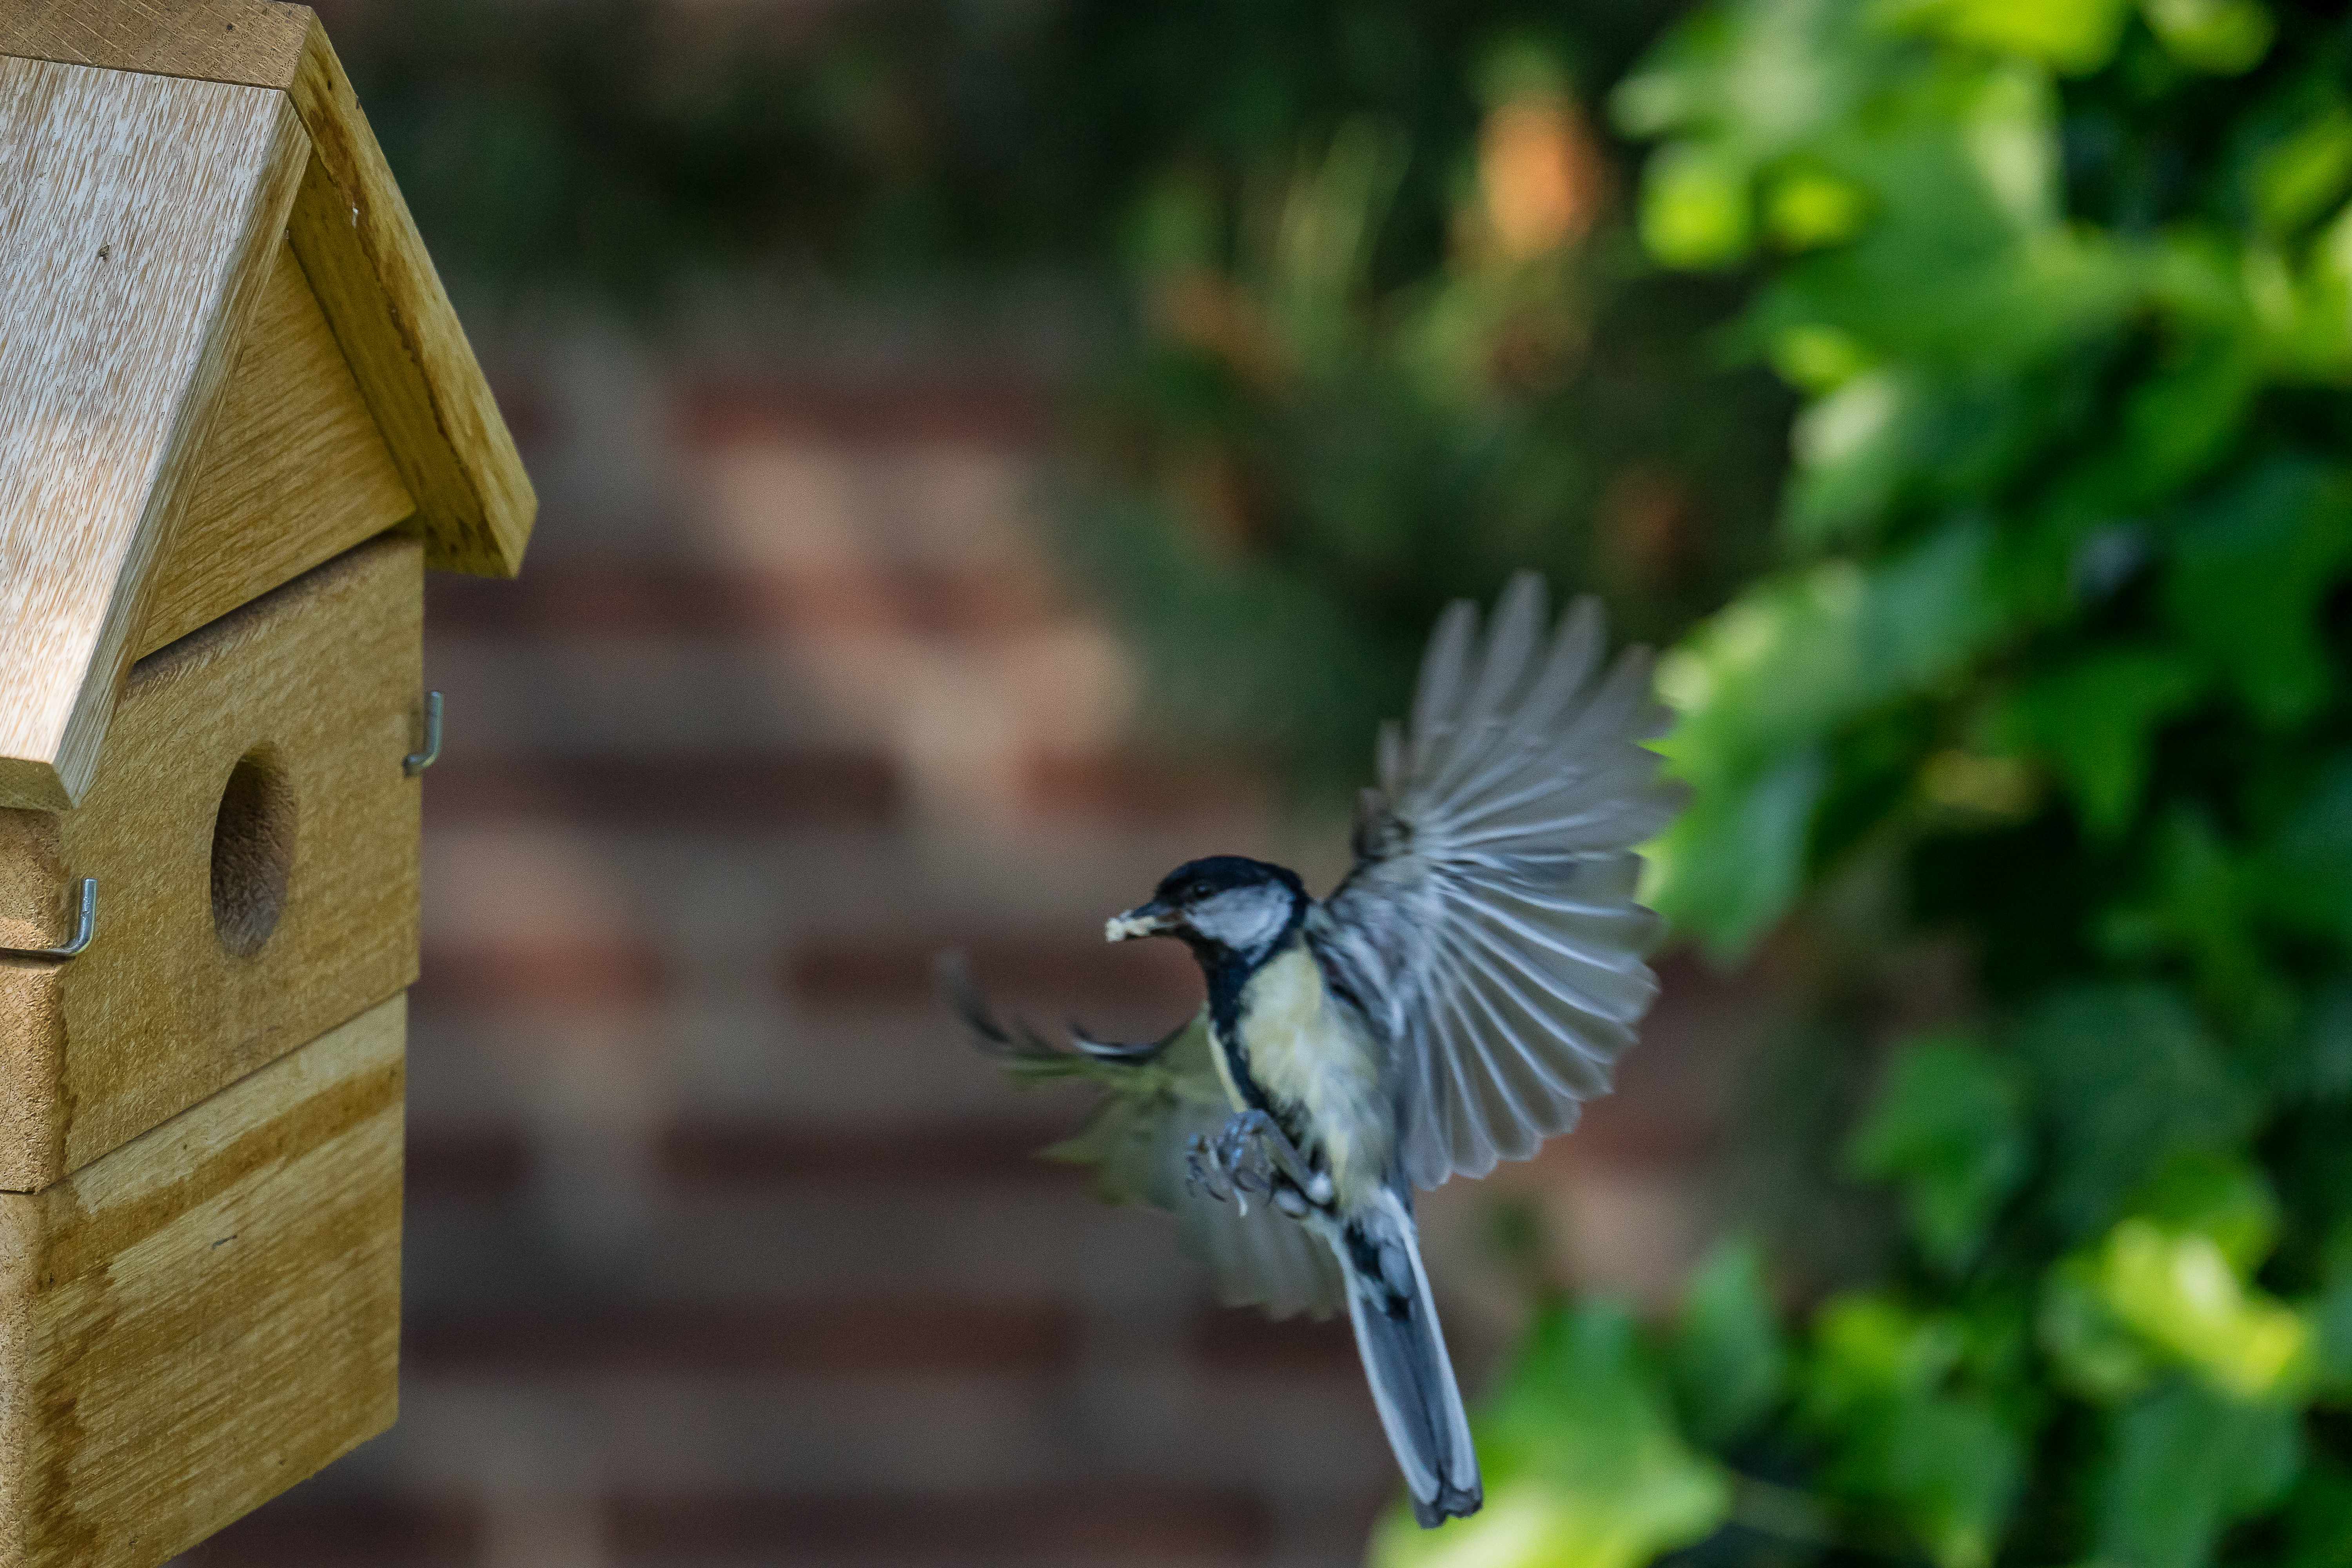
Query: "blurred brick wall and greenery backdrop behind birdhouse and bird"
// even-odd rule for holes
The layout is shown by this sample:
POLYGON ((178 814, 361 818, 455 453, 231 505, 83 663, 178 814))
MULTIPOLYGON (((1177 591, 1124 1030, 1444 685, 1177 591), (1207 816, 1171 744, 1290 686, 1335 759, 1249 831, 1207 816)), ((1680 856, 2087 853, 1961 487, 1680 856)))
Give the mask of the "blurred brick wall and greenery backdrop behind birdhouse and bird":
POLYGON ((2352 19, 336 0, 543 496, 435 581, 402 1425, 191 1563, 2352 1566, 2352 19), (1329 886, 1435 611, 1661 644, 1489 1474, 929 997, 1329 886))

